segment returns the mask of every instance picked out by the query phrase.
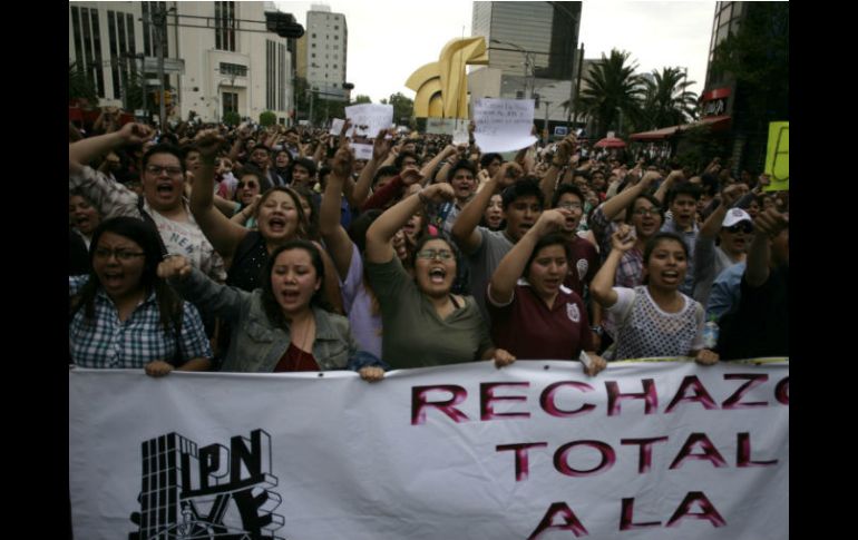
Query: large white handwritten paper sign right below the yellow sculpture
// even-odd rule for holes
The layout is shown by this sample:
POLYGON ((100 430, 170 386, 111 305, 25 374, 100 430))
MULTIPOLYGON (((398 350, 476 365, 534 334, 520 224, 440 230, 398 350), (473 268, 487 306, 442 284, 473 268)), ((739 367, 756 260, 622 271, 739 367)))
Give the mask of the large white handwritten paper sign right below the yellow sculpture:
POLYGON ((520 150, 536 143, 533 99, 477 99, 474 104, 474 138, 480 150, 520 150))

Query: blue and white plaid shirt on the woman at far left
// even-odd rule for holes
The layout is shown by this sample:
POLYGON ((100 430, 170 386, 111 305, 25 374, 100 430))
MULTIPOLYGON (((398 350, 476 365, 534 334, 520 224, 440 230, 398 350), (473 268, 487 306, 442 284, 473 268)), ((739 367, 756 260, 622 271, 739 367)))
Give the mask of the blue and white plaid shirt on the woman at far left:
MULTIPOLYGON (((69 276, 69 296, 80 292, 89 276, 69 276)), ((170 364, 176 361, 176 336, 165 333, 160 312, 153 292, 130 316, 119 321, 119 313, 104 289, 95 297, 95 317, 85 321, 81 306, 69 324, 69 351, 76 365, 101 369, 142 369, 155 360, 170 364)), ((212 357, 212 346, 205 335, 199 313, 184 302, 181 359, 212 357)))

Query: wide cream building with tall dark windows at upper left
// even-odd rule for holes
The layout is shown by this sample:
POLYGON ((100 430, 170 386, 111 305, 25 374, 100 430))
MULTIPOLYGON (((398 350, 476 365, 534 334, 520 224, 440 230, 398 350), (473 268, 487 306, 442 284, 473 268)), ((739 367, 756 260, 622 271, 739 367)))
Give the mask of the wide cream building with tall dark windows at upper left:
POLYGON ((271 2, 70 2, 69 63, 86 70, 99 105, 129 109, 142 88, 142 109, 157 115, 160 31, 173 118, 193 110, 220 121, 234 111, 259 121, 270 110, 285 124, 294 101, 290 40, 266 31, 266 9, 271 2))

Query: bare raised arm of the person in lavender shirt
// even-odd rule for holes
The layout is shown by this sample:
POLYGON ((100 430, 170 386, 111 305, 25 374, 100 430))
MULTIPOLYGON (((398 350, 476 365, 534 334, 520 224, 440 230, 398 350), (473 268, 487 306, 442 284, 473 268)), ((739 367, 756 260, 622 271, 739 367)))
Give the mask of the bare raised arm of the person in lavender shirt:
POLYGON ((340 225, 340 205, 342 187, 345 178, 351 175, 354 157, 348 146, 340 147, 333 157, 333 171, 328 177, 328 185, 322 196, 319 209, 319 228, 324 238, 325 248, 333 259, 337 273, 341 279, 349 275, 351 266, 352 242, 345 229, 340 225))

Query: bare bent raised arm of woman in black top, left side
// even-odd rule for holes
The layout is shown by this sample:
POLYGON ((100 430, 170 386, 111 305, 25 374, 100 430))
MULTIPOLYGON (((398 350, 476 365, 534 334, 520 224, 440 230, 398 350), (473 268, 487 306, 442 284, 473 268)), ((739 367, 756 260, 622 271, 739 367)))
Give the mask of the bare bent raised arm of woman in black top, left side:
POLYGON ((201 163, 191 193, 191 212, 217 253, 231 258, 247 229, 230 220, 214 206, 214 163, 224 138, 216 129, 207 129, 197 134, 195 141, 199 149, 201 163))

